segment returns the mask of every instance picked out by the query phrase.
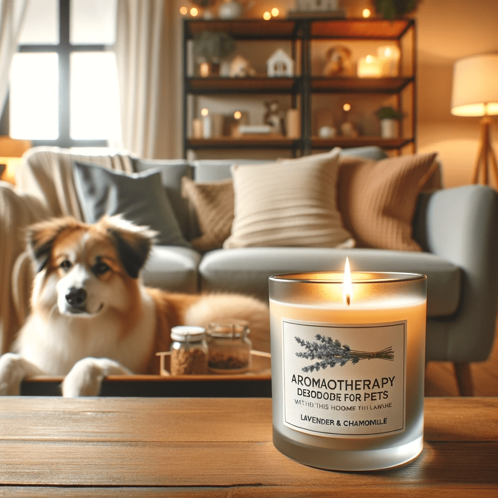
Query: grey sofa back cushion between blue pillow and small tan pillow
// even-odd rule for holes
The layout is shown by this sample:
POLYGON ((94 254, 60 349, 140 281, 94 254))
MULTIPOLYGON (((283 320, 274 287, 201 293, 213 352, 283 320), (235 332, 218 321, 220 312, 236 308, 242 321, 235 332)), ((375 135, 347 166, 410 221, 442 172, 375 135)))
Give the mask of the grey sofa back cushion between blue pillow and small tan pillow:
POLYGON ((159 170, 161 183, 166 191, 173 213, 180 225, 183 237, 191 238, 190 213, 187 201, 181 195, 182 178, 193 178, 193 168, 186 159, 136 159, 136 172, 159 170))

